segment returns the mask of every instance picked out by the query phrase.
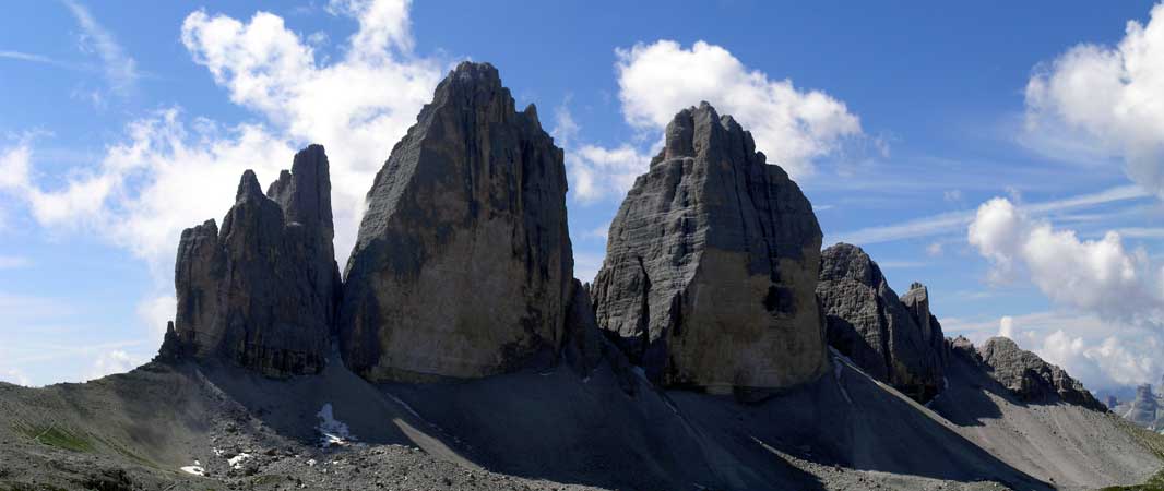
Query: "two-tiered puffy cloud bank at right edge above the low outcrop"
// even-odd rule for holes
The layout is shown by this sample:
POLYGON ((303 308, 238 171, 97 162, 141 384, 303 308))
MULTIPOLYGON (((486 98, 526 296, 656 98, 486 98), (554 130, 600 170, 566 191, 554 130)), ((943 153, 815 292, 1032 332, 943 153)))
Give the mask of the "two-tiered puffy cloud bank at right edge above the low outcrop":
POLYGON ((994 198, 978 208, 967 239, 991 262, 994 280, 1029 278, 1069 309, 1052 321, 1003 316, 999 335, 1016 339, 1023 328, 1028 349, 1092 389, 1144 383, 1164 370, 1157 361, 1164 270, 1145 251, 1126 248, 1120 234, 1081 240, 994 198))

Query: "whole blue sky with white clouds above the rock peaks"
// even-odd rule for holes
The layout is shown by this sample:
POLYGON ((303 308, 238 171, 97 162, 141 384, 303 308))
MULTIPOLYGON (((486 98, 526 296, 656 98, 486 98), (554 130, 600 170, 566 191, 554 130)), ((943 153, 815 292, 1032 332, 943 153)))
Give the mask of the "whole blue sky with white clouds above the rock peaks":
POLYGON ((899 292, 927 283, 947 334, 1009 335, 1092 389, 1156 382, 1164 10, 1013 3, 14 2, 0 378, 150 357, 180 229, 308 142, 335 168, 342 261, 371 175, 473 59, 567 152, 580 277, 662 124, 705 99, 793 173, 826 244, 863 246, 899 292))

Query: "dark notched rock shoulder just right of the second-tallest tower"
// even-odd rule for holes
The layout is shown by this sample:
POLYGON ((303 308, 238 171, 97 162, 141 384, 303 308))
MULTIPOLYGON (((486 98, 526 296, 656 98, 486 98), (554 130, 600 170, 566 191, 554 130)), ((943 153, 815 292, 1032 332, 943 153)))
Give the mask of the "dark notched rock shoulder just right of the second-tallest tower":
POLYGON ((830 346, 918 401, 941 391, 946 344, 924 285, 899 299, 864 250, 839 243, 821 256, 816 291, 830 346))

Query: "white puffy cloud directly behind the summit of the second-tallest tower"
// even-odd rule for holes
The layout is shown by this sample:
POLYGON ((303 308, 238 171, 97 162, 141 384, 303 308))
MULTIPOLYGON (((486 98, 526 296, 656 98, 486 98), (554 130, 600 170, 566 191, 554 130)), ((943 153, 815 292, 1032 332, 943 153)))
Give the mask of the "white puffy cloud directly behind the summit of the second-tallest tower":
POLYGON ((616 51, 623 115, 632 127, 655 133, 680 109, 708 101, 752 131, 757 149, 793 177, 836 151, 844 137, 861 135, 860 120, 844 102, 792 80, 773 80, 746 67, 726 49, 674 41, 616 51))

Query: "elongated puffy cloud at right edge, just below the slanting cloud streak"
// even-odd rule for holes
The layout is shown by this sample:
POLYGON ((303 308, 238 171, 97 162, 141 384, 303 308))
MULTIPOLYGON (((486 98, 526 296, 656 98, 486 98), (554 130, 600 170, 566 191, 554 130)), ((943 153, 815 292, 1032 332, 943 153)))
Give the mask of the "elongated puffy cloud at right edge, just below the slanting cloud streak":
POLYGON ((992 277, 1027 273, 1051 300, 1120 319, 1155 320, 1164 305, 1159 269, 1109 232, 1096 241, 1056 230, 1006 198, 978 208, 967 239, 993 264, 992 277))

